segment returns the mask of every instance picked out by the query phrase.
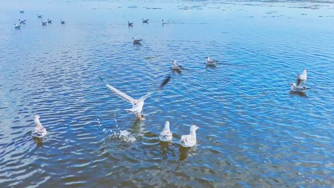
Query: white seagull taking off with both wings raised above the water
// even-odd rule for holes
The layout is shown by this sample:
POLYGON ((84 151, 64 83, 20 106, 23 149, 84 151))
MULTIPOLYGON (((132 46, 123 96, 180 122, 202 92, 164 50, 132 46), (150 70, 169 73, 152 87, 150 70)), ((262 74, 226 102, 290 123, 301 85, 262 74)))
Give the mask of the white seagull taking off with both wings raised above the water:
POLYGON ((158 91, 159 89, 161 89, 164 85, 166 85, 170 80, 170 76, 168 76, 164 82, 156 89, 154 89, 153 91, 147 93, 146 95, 144 95, 143 97, 141 97, 140 99, 133 99, 132 97, 126 95, 125 93, 123 93, 122 91, 116 89, 115 87, 109 85, 109 84, 105 84, 112 92, 114 92, 118 97, 122 98, 123 100, 129 102, 132 104, 132 108, 131 109, 125 109, 127 112, 135 114, 135 116, 137 117, 137 119, 140 120, 145 120, 144 115, 142 115, 142 110, 143 110, 143 105, 144 105, 144 101, 147 99, 147 97, 149 97, 151 94, 155 93, 156 91, 158 91))

